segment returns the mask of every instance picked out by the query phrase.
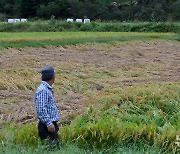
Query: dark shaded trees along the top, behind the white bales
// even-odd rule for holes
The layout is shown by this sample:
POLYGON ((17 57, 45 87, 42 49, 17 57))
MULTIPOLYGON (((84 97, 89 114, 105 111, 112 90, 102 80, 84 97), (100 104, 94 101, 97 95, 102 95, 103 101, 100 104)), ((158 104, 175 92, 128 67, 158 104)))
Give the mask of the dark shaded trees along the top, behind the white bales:
POLYGON ((180 0, 0 0, 7 18, 179 21, 180 0))

